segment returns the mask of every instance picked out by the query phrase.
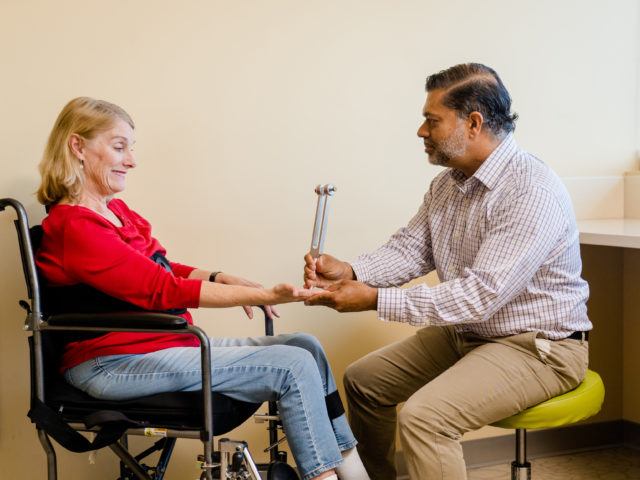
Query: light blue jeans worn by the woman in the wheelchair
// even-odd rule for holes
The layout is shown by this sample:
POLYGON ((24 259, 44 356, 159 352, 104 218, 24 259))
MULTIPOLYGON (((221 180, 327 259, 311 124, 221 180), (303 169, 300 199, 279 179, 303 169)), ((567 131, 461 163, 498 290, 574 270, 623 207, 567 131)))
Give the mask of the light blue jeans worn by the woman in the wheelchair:
MULTIPOLYGON (((336 467, 356 445, 345 415, 330 421, 325 396, 336 384, 320 342, 304 333, 212 338, 213 391, 246 402, 275 400, 303 479, 336 467)), ((200 390, 200 349, 177 347, 142 355, 110 355, 65 372, 89 395, 125 400, 200 390)))

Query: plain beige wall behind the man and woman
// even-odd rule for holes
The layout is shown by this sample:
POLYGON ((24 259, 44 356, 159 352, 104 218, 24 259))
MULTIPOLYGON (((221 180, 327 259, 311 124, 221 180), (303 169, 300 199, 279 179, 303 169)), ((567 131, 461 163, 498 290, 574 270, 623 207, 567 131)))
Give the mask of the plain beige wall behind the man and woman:
MULTIPOLYGON (((338 188, 327 249, 344 258, 382 242, 429 180, 415 130, 424 77, 492 65, 520 113, 517 138, 560 175, 634 166, 637 0, 0 2, 0 195, 43 215, 35 165, 60 108, 91 95, 137 122, 139 167, 124 198, 172 258, 265 284, 298 282, 319 182, 338 188)), ((10 215, 0 215, 1 478, 42 478, 25 417, 24 297, 10 215)), ((326 345, 337 377, 413 332, 375 314, 284 306, 278 331, 326 345)), ((212 335, 249 335, 241 311, 199 311, 212 335)), ((617 407, 616 407, 617 408, 617 407)), ((240 436, 262 446, 257 427, 240 436)), ((170 478, 194 478, 183 442, 170 478)), ((63 454, 62 478, 110 478, 63 454)))

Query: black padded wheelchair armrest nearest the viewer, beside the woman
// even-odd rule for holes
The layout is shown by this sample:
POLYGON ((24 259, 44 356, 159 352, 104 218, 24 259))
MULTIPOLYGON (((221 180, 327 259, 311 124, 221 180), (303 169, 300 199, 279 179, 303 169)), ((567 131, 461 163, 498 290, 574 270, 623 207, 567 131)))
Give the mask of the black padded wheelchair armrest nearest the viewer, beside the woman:
POLYGON ((151 330, 184 330, 189 324, 177 315, 154 312, 62 313, 51 315, 52 327, 143 328, 151 330))

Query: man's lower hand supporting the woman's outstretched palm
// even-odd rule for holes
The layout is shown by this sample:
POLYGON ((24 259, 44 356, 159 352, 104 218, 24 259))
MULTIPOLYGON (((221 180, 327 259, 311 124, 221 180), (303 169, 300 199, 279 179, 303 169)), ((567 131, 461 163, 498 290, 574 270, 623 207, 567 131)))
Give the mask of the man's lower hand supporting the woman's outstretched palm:
POLYGON ((363 312, 378 307, 378 289, 355 280, 340 280, 317 293, 305 305, 324 305, 338 312, 363 312))

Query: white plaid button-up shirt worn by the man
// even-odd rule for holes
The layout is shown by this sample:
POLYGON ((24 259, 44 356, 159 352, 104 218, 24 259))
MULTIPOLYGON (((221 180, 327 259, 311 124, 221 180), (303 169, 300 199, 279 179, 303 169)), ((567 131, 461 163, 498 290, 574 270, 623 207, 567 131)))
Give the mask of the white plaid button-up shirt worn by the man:
POLYGON ((592 328, 569 195, 512 135, 472 177, 440 173, 409 224, 352 267, 378 287, 381 320, 551 340, 592 328), (439 285, 397 288, 434 269, 439 285))

